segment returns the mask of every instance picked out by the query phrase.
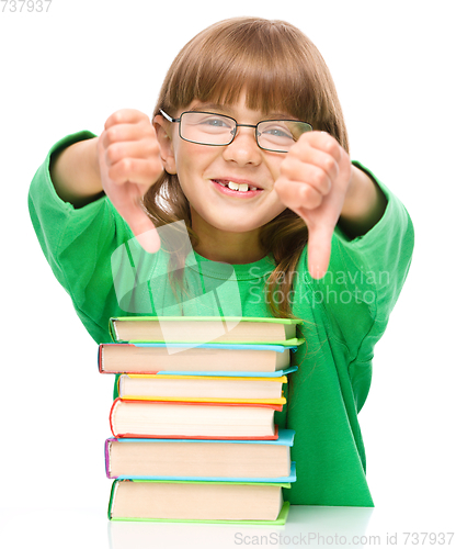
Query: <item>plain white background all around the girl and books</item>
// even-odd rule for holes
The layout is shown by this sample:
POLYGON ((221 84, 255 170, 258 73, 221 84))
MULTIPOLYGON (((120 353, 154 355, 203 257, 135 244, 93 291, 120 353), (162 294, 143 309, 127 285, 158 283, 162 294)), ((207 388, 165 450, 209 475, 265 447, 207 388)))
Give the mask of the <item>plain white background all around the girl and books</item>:
MULTIPOLYGON (((3 547, 25 547, 29 538, 47 547, 109 542, 103 444, 113 379, 98 373, 96 344, 38 246, 30 181, 60 137, 100 133, 119 108, 151 113, 179 49, 207 25, 238 15, 289 21, 317 44, 335 80, 352 157, 386 182, 414 222, 412 267, 376 347, 360 414, 376 503, 368 524, 360 512, 361 531, 381 536, 385 546, 399 533, 401 546, 402 531, 455 530, 452 4, 53 0, 47 13, 12 13, 11 4, 0 12, 3 547)), ((292 523, 324 529, 310 511, 299 509, 292 523)), ((328 520, 346 526, 343 517, 328 520)), ((178 530, 189 545, 192 534, 160 531, 178 530)), ((218 530, 202 536, 209 531, 220 544, 218 530)), ((167 539, 163 546, 179 546, 167 539)), ((233 546, 232 534, 223 539, 233 546)))

